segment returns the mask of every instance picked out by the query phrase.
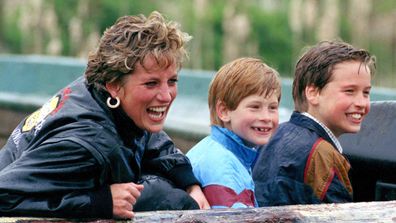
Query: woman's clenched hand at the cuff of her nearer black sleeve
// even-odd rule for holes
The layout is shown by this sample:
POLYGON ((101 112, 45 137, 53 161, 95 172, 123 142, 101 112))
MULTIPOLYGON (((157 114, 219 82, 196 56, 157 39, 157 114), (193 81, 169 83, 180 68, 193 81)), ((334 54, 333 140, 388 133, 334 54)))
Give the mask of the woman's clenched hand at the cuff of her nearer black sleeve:
POLYGON ((133 218, 133 205, 140 197, 143 190, 142 184, 121 183, 110 185, 111 196, 113 198, 113 217, 114 218, 133 218))

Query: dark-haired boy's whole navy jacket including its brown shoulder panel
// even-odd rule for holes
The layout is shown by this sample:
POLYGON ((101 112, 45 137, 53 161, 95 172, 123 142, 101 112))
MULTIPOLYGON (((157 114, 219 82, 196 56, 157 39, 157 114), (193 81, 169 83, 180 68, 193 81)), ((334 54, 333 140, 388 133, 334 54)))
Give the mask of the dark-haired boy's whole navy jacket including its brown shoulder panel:
POLYGON ((259 206, 352 201, 349 162, 314 120, 294 112, 253 168, 259 206))

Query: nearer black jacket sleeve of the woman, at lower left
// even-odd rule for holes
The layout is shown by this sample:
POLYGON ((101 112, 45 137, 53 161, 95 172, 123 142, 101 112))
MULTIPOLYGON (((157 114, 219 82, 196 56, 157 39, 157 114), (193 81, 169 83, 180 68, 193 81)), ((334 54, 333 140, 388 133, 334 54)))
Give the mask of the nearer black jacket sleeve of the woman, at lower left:
POLYGON ((111 218, 110 187, 95 186, 100 171, 82 145, 51 138, 0 170, 0 216, 111 218))

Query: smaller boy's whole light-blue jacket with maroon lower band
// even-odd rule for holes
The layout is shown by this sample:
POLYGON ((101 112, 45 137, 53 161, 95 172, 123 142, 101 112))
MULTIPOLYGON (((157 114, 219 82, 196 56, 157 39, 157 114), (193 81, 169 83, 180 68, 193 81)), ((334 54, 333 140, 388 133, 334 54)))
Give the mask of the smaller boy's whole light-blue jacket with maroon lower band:
POLYGON ((257 206, 251 177, 256 156, 240 137, 218 126, 187 153, 212 208, 257 206))

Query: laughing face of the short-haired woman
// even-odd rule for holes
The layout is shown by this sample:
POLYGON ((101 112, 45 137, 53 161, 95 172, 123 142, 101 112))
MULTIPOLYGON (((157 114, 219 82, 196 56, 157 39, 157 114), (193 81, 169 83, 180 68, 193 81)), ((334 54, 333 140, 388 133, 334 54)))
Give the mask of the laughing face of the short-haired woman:
POLYGON ((160 69, 151 57, 146 57, 144 65, 149 70, 137 63, 122 85, 106 87, 112 97, 120 98, 121 107, 139 128, 159 132, 177 95, 177 67, 160 69))

